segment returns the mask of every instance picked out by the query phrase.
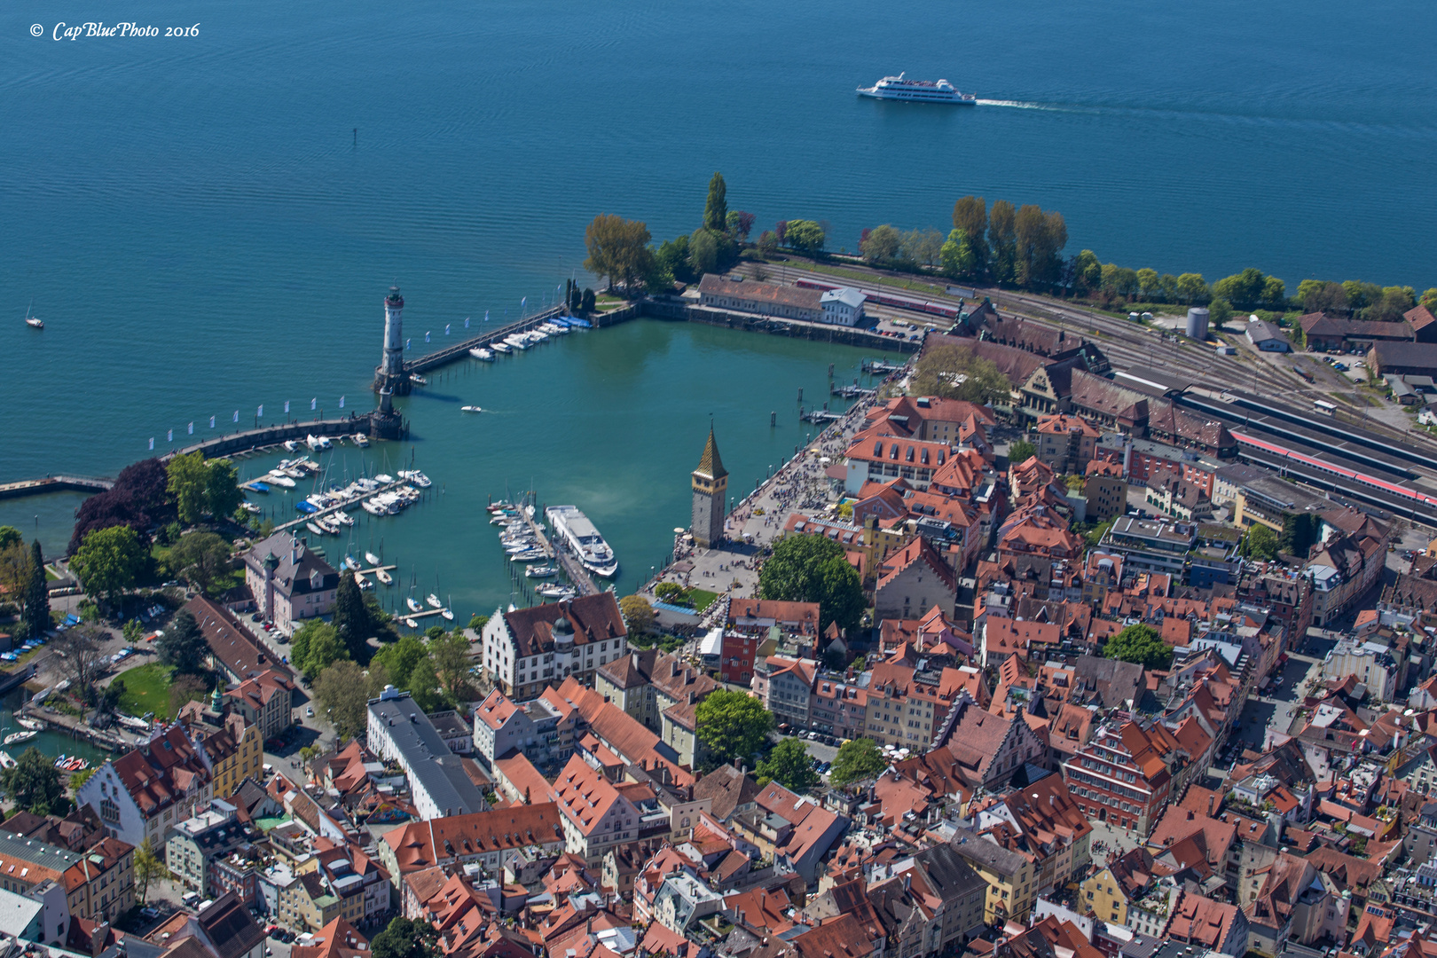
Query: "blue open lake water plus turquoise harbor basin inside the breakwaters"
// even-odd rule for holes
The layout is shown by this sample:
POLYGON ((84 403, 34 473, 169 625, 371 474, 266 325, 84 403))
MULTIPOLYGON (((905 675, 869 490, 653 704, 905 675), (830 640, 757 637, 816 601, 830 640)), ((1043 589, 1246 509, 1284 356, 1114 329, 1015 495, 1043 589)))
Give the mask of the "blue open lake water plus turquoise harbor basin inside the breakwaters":
MULTIPOLYGON (((595 213, 691 230, 714 169, 730 208, 828 221, 833 248, 884 221, 946 228, 979 192, 1063 211, 1069 251, 1105 261, 1437 283, 1420 0, 141 0, 126 19, 200 36, 49 39, 101 14, 0 11, 0 480, 114 474, 149 437, 260 404, 366 408, 391 282, 418 350, 542 302, 595 213), (990 102, 854 96, 904 69, 990 102), (43 333, 20 323, 32 299, 43 333)), ((726 460, 762 474, 793 440, 792 421, 766 438, 769 409, 856 359, 657 325, 569 340, 437 383, 493 418, 415 398, 415 455, 447 497, 532 480, 579 501, 627 572, 683 523, 710 411, 726 460)), ((57 543, 70 508, 0 521, 57 543)), ((397 520, 424 530, 402 546, 420 582, 438 564, 456 603, 500 600, 460 510, 422 508, 433 524, 397 520)))

